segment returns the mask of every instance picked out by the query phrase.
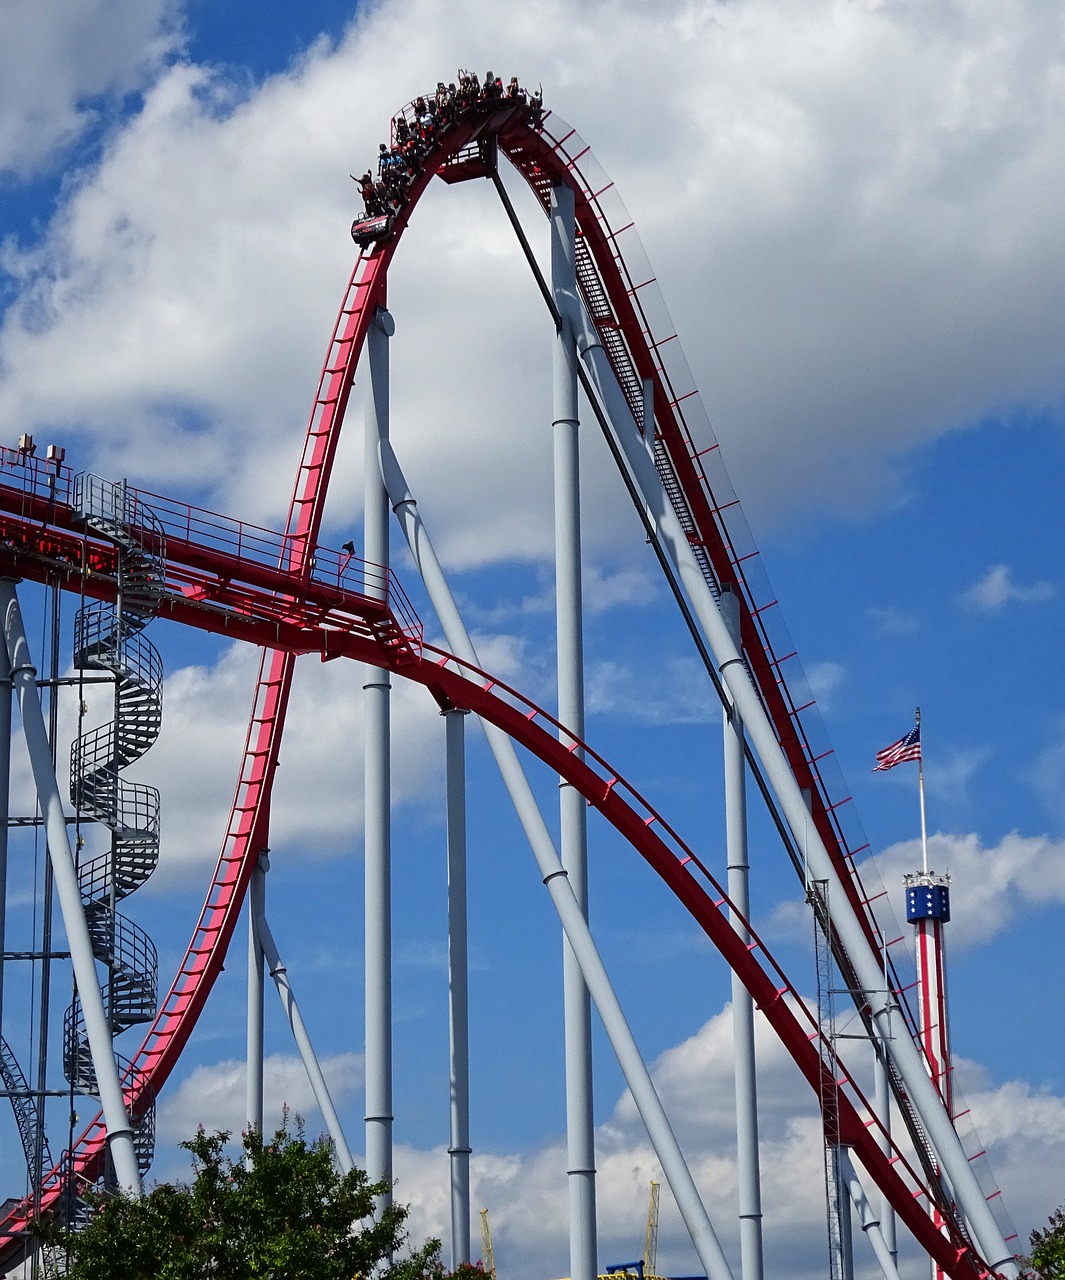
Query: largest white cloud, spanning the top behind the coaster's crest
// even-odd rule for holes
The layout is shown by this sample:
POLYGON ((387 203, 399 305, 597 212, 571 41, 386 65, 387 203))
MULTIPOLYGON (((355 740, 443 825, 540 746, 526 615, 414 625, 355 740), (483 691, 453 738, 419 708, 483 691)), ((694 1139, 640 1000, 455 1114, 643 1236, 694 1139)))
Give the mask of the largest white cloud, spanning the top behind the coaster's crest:
MULTIPOLYGON (((1037 0, 543 0, 506 29, 415 0, 251 92, 172 67, 9 251, 0 408, 78 465, 276 522, 352 259, 347 173, 398 97, 480 58, 543 78, 617 178, 748 504, 861 508, 913 445, 1065 387, 1056 31, 1037 0)), ((550 332, 511 239, 484 184, 434 187, 390 282, 397 448, 457 563, 550 541, 550 332)), ((586 456, 594 554, 632 517, 586 456)), ((335 520, 358 471, 349 449, 335 520)))

